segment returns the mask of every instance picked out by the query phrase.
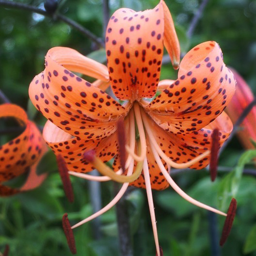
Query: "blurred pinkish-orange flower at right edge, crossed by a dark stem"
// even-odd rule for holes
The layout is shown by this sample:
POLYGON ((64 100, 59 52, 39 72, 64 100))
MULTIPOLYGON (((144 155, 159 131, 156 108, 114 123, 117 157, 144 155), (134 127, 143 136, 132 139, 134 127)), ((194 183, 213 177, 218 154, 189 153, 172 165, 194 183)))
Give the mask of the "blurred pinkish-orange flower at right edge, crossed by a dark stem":
MULTIPOLYGON (((254 100, 254 95, 245 80, 233 68, 231 69, 237 80, 237 89, 234 97, 226 108, 233 124, 236 123, 244 109, 254 100)), ((251 139, 256 141, 256 107, 253 107, 241 124, 237 132, 241 144, 247 149, 253 149, 251 139)))

